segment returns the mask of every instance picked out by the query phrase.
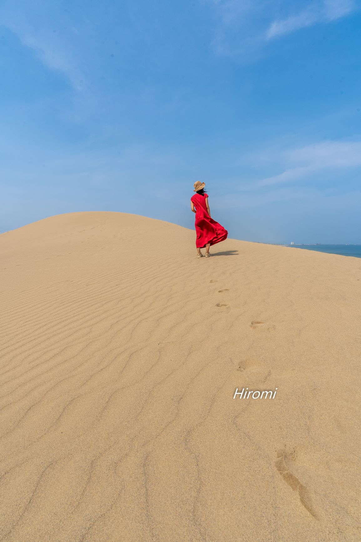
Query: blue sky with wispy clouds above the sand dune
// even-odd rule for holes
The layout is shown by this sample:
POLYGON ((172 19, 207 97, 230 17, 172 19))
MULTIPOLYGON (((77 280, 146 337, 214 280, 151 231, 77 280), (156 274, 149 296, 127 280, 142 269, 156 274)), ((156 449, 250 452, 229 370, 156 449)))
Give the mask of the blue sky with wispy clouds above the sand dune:
POLYGON ((361 243, 353 0, 0 4, 0 231, 73 211, 361 243))

